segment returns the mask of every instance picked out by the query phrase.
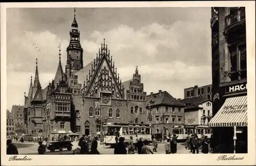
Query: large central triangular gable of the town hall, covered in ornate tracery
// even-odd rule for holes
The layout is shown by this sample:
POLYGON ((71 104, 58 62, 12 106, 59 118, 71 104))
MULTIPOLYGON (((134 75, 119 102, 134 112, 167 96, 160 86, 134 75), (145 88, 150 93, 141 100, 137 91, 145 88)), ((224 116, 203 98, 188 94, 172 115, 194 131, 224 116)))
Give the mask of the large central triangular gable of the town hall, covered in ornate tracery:
POLYGON ((124 88, 112 56, 110 56, 108 45, 105 45, 105 39, 96 59, 91 64, 82 89, 83 95, 89 97, 100 97, 100 92, 110 93, 114 99, 124 99, 124 88))

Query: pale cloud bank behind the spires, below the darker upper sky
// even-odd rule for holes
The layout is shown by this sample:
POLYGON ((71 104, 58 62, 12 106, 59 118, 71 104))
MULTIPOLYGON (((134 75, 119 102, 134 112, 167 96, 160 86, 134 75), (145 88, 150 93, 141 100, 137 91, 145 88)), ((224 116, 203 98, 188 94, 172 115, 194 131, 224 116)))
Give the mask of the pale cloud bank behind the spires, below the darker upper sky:
MULTIPOLYGON (((210 28, 205 29, 199 22, 150 23, 136 28, 121 24, 109 31, 95 31, 81 39, 84 64, 96 58, 103 38, 122 82, 131 79, 138 66, 147 93, 161 89, 182 98, 184 88, 211 84, 210 28)), ((21 31, 8 39, 7 93, 15 90, 15 94, 21 95, 15 101, 13 95, 8 95, 8 107, 14 103, 23 104, 22 94, 28 91, 30 75, 34 77, 36 57, 43 88, 55 75, 59 43, 62 67, 65 67, 68 40, 61 40, 48 31, 21 31), (20 79, 24 76, 24 81, 12 82, 17 76, 20 79)))

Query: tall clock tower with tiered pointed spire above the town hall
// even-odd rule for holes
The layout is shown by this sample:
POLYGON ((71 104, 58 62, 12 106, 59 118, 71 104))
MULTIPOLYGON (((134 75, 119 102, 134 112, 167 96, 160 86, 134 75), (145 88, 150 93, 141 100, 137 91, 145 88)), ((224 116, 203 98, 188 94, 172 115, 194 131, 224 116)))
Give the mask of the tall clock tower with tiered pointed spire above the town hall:
POLYGON ((66 73, 72 77, 77 71, 83 68, 83 49, 80 45, 80 32, 76 22, 76 9, 74 9, 74 20, 71 25, 70 43, 67 48, 66 73))

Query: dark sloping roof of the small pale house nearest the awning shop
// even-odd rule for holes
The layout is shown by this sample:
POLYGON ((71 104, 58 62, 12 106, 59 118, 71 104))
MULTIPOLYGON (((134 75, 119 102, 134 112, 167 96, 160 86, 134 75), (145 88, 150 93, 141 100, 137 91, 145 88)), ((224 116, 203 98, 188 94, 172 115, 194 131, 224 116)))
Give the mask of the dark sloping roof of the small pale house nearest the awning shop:
POLYGON ((194 109, 198 108, 199 104, 208 101, 209 99, 204 98, 203 96, 186 98, 179 100, 181 103, 185 104, 185 109, 194 109))

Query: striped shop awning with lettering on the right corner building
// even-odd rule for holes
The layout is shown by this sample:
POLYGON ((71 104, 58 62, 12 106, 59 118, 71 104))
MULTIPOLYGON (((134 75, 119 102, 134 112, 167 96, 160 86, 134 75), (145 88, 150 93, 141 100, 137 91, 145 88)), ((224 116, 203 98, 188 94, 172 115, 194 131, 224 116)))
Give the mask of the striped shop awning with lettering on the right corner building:
POLYGON ((209 127, 247 126, 247 96, 227 98, 209 127))

